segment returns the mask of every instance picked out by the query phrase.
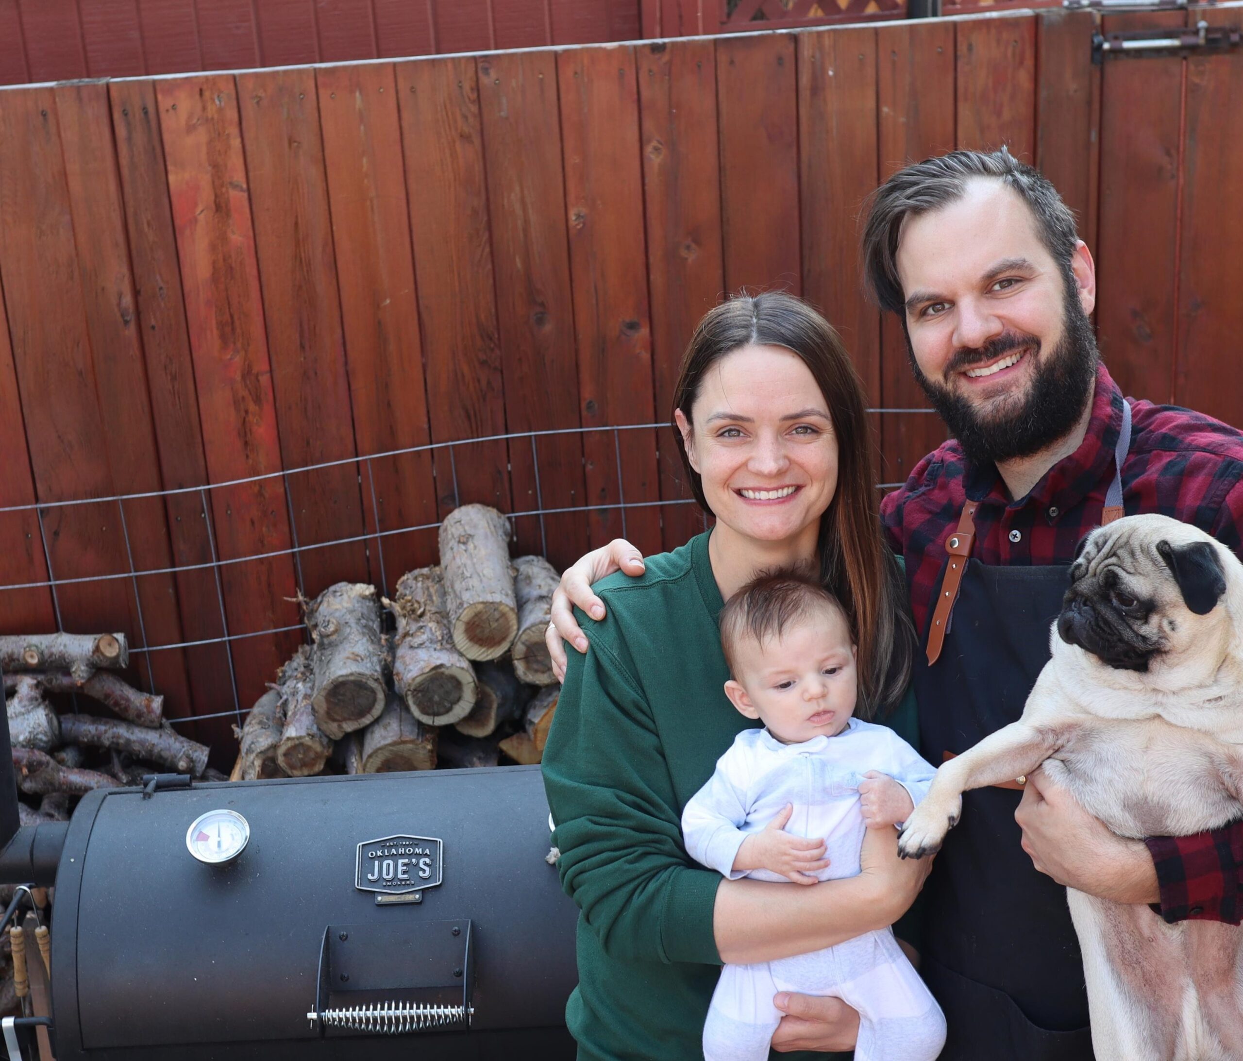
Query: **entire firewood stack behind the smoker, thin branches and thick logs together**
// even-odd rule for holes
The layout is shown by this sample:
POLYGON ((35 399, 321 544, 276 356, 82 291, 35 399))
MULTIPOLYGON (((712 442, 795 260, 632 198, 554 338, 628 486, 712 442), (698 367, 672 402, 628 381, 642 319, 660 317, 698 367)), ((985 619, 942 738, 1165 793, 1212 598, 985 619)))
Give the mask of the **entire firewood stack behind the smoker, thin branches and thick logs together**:
MULTIPOLYGON (((510 526, 467 504, 440 528, 440 564, 392 600, 338 583, 302 600, 308 641, 235 727, 230 780, 538 763, 559 686, 544 630, 558 574, 510 559, 510 526)), ((145 774, 224 780, 164 721, 163 697, 117 673, 122 634, 0 637, 25 824, 65 820, 92 789, 145 774)))

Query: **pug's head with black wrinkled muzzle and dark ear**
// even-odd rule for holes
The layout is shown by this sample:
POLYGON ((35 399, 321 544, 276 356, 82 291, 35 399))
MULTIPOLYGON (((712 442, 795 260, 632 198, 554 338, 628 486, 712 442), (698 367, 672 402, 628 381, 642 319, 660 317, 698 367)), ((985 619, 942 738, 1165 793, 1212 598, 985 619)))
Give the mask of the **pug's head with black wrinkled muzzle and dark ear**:
POLYGON ((1217 545, 1158 516, 1120 519, 1080 543, 1058 634, 1110 667, 1147 671, 1196 651, 1226 593, 1217 545))

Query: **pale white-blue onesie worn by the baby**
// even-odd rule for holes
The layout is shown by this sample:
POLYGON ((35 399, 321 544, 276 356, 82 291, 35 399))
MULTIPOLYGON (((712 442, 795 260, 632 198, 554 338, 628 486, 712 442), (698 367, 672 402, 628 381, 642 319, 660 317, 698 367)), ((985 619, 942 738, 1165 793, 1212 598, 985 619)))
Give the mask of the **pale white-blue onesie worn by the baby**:
MULTIPOLYGON (((829 865, 815 876, 854 877, 866 831, 859 783, 869 770, 891 776, 916 804, 936 773, 891 729, 856 718, 837 737, 802 744, 745 729, 682 811, 686 850, 730 880, 791 883, 768 870, 735 872, 733 860, 748 834, 793 804, 786 831, 827 846, 829 865)), ((856 1009, 855 1061, 933 1061, 945 1045, 945 1016, 886 928, 809 954, 726 965, 704 1025, 706 1061, 764 1061, 782 1018, 778 991, 833 995, 856 1009)))

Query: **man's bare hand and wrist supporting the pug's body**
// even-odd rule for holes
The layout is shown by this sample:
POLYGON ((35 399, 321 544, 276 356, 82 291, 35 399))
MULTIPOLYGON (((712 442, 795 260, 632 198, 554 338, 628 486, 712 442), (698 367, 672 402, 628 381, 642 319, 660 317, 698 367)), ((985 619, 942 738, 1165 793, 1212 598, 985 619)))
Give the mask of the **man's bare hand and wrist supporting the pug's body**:
POLYGON ((1110 832, 1043 770, 1027 775, 1014 820, 1035 868, 1059 885, 1119 903, 1160 899, 1156 868, 1144 842, 1110 832))

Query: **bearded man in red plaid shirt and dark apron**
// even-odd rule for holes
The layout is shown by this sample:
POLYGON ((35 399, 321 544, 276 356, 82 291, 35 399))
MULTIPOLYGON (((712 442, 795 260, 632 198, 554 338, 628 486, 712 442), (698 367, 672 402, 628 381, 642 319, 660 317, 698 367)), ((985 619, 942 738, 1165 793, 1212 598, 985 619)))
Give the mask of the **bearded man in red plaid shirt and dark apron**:
MULTIPOLYGON (((1088 321, 1095 267, 1074 217, 1004 149, 955 152, 890 178, 871 204, 864 261, 955 436, 881 504, 925 649, 920 750, 940 762, 1019 716, 1049 656, 1065 569, 1106 499, 1195 523, 1239 550, 1243 435, 1187 410, 1124 403, 1099 363, 1088 321)), ((599 552, 608 570, 641 570, 624 542, 599 552)), ((594 598, 576 579, 567 573, 567 590, 588 608, 594 598)), ((557 630, 573 639, 558 605, 557 630)), ((558 656, 561 644, 552 647, 558 656)), ((1091 1057, 1066 885, 1151 903, 1171 922, 1238 924, 1243 914, 1243 824, 1122 840, 1039 772, 1022 796, 989 789, 965 804, 925 888, 921 972, 946 1011, 943 1057, 1091 1057)), ((778 1004, 791 1016, 776 1049, 851 1041, 854 1015, 839 1000, 778 1004)))

